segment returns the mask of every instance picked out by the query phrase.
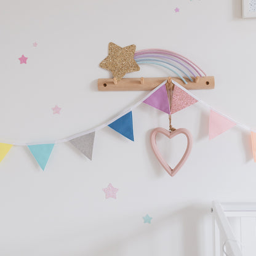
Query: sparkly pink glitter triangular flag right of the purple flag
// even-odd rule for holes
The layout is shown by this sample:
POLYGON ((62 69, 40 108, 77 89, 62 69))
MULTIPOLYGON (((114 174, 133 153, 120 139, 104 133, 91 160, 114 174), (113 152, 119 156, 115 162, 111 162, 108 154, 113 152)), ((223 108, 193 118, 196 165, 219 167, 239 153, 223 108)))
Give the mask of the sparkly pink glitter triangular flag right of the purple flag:
POLYGON ((198 102, 198 100, 187 94, 178 86, 174 86, 174 93, 172 94, 172 107, 170 108, 170 113, 174 114, 180 110, 183 110, 183 108, 193 105, 196 102, 198 102))

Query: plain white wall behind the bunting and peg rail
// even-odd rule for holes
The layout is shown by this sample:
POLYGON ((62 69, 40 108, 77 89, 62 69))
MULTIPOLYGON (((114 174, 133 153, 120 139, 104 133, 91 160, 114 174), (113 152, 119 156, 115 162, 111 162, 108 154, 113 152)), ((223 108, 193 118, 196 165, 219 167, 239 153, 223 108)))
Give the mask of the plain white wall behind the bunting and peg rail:
MULTIPOLYGON (((255 127, 255 26, 241 18, 239 0, 1 0, 1 142, 67 137, 146 95, 97 91, 97 79, 111 76, 98 66, 110 41, 185 55, 215 76, 214 90, 194 94, 255 127)), ((141 67, 129 76, 169 75, 141 67)), ((133 116, 135 142, 106 127, 92 162, 61 143, 42 172, 27 148, 10 150, 0 164, 0 255, 212 255, 211 201, 256 200, 250 133, 233 128, 209 142, 207 108, 176 113, 174 126, 189 129, 194 145, 172 178, 149 142, 154 127, 167 129, 167 115, 140 105, 133 116), (105 199, 108 183, 119 188, 116 200, 105 199)), ((170 163, 183 150, 176 142, 159 142, 170 163)))

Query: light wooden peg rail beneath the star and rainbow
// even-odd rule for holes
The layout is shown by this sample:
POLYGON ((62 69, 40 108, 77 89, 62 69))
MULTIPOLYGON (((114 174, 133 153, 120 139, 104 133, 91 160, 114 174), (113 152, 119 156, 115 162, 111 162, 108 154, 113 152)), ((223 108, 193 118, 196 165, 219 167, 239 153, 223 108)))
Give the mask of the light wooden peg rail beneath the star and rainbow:
MULTIPOLYGON (((184 78, 185 84, 180 78, 172 78, 188 90, 214 89, 214 76, 196 77, 193 82, 184 78)), ((113 78, 98 79, 98 90, 153 90, 167 78, 123 78, 116 82, 113 78)))

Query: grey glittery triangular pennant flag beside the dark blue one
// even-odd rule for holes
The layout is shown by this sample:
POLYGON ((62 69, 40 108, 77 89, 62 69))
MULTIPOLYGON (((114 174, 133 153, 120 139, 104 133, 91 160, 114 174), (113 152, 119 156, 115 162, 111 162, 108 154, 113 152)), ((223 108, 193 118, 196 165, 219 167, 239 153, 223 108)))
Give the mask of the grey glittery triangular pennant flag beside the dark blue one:
POLYGON ((70 143, 73 144, 79 151, 81 151, 87 158, 92 160, 92 150, 94 148, 95 132, 82 135, 78 138, 73 138, 70 143))

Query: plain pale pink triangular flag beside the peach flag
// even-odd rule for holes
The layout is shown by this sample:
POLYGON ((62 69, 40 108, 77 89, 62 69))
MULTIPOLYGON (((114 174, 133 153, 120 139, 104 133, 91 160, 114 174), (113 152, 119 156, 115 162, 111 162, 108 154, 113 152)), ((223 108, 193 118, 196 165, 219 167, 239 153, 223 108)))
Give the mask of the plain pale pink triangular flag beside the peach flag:
POLYGON ((236 126, 236 123, 230 121, 230 119, 225 118, 221 114, 216 113, 213 110, 210 110, 210 124, 209 124, 209 139, 217 137, 218 135, 226 132, 226 130, 231 129, 236 126))

